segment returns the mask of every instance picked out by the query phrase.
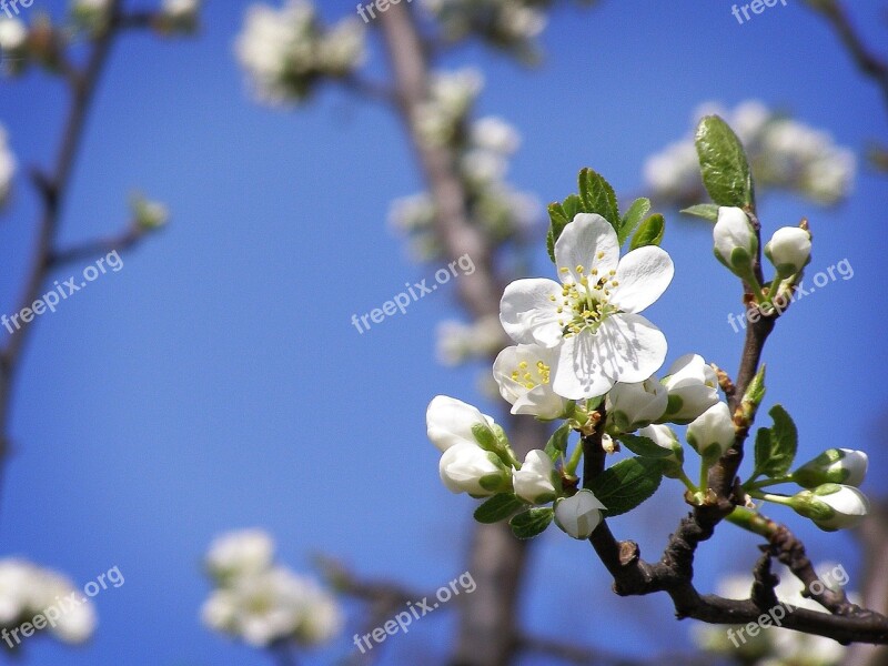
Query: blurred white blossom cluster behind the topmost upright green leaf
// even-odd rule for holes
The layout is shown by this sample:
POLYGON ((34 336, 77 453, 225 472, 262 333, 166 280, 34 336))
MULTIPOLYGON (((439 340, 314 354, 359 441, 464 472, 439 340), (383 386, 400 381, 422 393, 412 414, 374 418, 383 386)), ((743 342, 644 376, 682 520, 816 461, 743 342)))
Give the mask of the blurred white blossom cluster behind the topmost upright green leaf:
MULTIPOLYGON (((734 128, 747 150, 759 188, 797 192, 821 204, 834 204, 848 195, 856 159, 828 133, 757 100, 743 102, 733 111, 707 102, 695 112, 695 124, 709 113, 718 113, 734 128)), ((700 200, 704 189, 694 137, 688 134, 648 158, 644 176, 662 204, 682 208, 700 200)))

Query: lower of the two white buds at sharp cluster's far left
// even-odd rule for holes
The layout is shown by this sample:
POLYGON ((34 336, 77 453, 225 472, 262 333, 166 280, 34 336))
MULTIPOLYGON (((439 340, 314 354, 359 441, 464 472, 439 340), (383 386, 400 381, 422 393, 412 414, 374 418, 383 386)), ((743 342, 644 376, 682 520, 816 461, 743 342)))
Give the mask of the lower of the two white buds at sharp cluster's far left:
POLYGON ((444 452, 438 473, 451 493, 486 497, 512 487, 511 475, 500 456, 468 442, 444 452))

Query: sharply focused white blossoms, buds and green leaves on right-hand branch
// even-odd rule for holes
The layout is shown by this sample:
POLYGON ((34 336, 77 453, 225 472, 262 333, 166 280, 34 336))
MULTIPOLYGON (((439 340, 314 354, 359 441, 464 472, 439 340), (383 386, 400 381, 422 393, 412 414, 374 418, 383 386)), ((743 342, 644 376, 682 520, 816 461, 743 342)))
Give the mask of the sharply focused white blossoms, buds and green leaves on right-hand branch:
MULTIPOLYGON (((738 141, 715 117, 702 132, 704 142, 728 151, 738 141)), ((709 168, 703 158, 700 163, 709 168)), ((718 163, 713 170, 720 175, 724 168, 718 163)), ((719 199, 750 195, 751 184, 750 192, 725 194, 717 189, 720 182, 713 188, 719 199)), ((497 355, 493 379, 513 414, 562 422, 548 444, 521 462, 504 430, 476 407, 438 395, 426 411, 427 436, 442 452, 438 472, 445 487, 486 498, 475 517, 511 518, 523 538, 553 521, 568 535, 586 538, 603 517, 647 500, 664 476, 685 485, 689 504, 706 505, 713 500, 709 470, 746 437, 765 394, 763 366, 739 405, 729 407, 727 395, 719 394, 719 371, 698 354, 677 359, 665 376, 657 376, 667 342, 642 312, 659 299, 675 271, 659 248, 663 218, 644 219, 648 200, 634 202, 620 216, 613 189, 592 170, 581 172, 579 189, 579 196, 549 206, 557 280, 516 280, 505 287, 500 305, 500 322, 515 344, 497 355), (629 251, 622 254, 630 236, 629 251), (673 426, 686 426, 684 438, 699 457, 698 482, 684 470, 685 451, 673 426), (573 451, 572 432, 581 435, 573 451), (581 490, 577 467, 587 446, 608 454, 625 447, 635 457, 584 480, 581 490)), ((774 299, 794 289, 810 260, 807 225, 774 233, 764 249, 774 279, 761 285, 754 270, 759 235, 747 212, 716 204, 695 209, 695 214, 714 218, 716 259, 748 285, 764 315, 776 316, 774 299)), ((756 434, 755 468, 743 484, 748 506, 755 508, 756 501, 781 504, 825 531, 856 525, 869 508, 857 487, 866 475, 866 454, 829 450, 790 472, 796 426, 780 405, 769 414, 774 426, 756 434), (801 490, 791 496, 766 491, 787 483, 801 490)))

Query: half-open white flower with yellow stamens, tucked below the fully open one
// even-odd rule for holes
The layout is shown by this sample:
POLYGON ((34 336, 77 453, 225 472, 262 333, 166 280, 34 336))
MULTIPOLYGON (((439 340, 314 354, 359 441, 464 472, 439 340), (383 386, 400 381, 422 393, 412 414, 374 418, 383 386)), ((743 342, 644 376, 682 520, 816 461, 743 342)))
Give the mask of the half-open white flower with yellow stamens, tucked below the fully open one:
POLYGON ((571 401, 552 390, 552 366, 557 350, 537 344, 519 344, 500 352, 493 364, 493 377, 500 394, 512 405, 513 414, 558 418, 571 401))

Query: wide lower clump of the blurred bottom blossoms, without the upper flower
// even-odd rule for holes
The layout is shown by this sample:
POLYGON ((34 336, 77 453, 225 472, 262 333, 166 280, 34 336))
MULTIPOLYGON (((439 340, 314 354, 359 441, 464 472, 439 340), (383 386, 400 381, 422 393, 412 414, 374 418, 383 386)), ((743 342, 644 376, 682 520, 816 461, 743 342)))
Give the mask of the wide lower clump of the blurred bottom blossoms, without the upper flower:
POLYGON ((280 566, 214 591, 201 615, 210 628, 255 647, 289 638, 305 646, 323 643, 339 633, 343 622, 330 594, 280 566))

